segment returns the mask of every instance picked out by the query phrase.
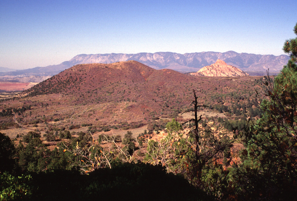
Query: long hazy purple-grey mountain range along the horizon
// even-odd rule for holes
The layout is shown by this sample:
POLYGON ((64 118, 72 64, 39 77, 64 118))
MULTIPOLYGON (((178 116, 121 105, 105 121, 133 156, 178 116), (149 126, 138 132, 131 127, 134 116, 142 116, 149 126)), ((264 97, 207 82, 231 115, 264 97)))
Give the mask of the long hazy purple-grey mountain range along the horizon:
POLYGON ((235 66, 242 71, 271 72, 280 71, 289 60, 288 55, 261 55, 228 52, 196 52, 178 54, 173 52, 137 53, 137 54, 79 54, 69 61, 59 65, 36 67, 26 70, 1 72, 0 76, 53 76, 67 68, 83 63, 115 63, 120 61, 135 60, 155 69, 168 68, 179 72, 197 72, 204 66, 223 60, 228 65, 235 66))

